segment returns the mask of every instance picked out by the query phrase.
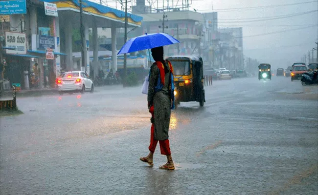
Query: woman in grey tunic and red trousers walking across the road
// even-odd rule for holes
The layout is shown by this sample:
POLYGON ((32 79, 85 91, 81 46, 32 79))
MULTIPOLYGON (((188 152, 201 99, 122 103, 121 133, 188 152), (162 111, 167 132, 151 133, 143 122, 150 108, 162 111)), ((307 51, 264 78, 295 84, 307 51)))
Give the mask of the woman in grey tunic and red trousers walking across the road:
POLYGON ((167 156, 167 163, 159 169, 174 170, 169 143, 169 124, 171 109, 174 109, 173 68, 169 61, 163 59, 163 47, 151 49, 155 63, 151 66, 148 87, 148 109, 151 118, 151 136, 149 155, 140 160, 153 166, 153 155, 159 141, 161 155, 167 156))

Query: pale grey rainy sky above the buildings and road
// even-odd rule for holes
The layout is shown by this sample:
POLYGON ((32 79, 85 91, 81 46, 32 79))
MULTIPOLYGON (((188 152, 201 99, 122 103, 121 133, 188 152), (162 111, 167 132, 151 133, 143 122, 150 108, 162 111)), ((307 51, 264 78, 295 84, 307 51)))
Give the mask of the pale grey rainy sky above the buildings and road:
MULTIPOLYGON (((104 1, 106 2, 106 0, 104 1)), ((262 9, 238 8, 292 4, 307 1, 314 0, 213 0, 213 8, 215 11, 219 10, 219 27, 243 27, 245 56, 258 59, 261 62, 271 63, 274 68, 285 68, 295 61, 301 61, 304 54, 306 54, 308 58, 308 51, 310 50, 311 52, 313 47, 317 47, 315 41, 318 39, 318 12, 278 20, 264 19, 265 21, 246 22, 246 19, 269 19, 270 17, 318 10, 318 1, 262 9), (235 9, 228 10, 229 8, 235 9), (316 26, 304 28, 307 24, 316 26), (304 29, 291 31, 291 29, 295 28, 304 29), (276 31, 286 32, 249 37, 276 31)), ((170 4, 171 2, 172 0, 169 0, 170 4)), ((177 0, 174 0, 174 2, 176 3, 177 0)), ((162 4, 162 0, 159 0, 159 3, 162 4)), ((108 4, 114 7, 114 1, 109 1, 108 4)), ((198 12, 212 10, 212 0, 193 0, 192 8, 197 9, 198 12)), ((314 56, 316 57, 316 54, 314 54, 314 56)))

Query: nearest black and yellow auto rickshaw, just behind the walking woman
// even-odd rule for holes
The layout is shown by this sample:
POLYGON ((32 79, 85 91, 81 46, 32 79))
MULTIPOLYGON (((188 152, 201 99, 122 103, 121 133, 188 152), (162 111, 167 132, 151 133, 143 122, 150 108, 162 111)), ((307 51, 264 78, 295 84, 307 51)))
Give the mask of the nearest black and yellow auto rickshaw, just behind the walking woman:
POLYGON ((175 107, 180 102, 196 101, 204 106, 203 59, 200 56, 173 56, 171 62, 175 83, 175 107))

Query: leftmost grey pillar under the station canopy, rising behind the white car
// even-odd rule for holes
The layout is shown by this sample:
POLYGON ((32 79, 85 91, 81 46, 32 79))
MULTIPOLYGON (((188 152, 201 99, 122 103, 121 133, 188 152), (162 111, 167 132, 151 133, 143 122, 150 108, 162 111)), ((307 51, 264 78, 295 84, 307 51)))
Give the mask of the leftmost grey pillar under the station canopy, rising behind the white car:
POLYGON ((71 71, 73 69, 73 44, 72 44, 72 20, 66 19, 64 26, 65 28, 65 53, 66 56, 66 71, 71 71))

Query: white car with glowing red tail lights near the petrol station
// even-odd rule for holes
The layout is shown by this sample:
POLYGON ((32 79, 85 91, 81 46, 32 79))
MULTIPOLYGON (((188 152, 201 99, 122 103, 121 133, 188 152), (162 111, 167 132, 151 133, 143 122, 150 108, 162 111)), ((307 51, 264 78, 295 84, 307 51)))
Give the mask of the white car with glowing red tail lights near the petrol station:
POLYGON ((64 92, 81 92, 94 91, 93 81, 82 71, 72 71, 64 73, 60 78, 56 79, 59 94, 64 92))

